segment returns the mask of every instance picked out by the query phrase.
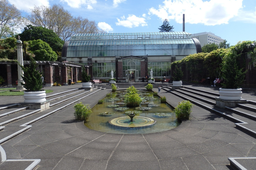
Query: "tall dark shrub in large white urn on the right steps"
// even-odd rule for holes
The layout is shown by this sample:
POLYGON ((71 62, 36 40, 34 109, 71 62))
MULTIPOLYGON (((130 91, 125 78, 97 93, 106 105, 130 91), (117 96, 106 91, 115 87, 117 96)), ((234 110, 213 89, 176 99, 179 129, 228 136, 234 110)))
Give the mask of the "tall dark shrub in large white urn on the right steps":
POLYGON ((240 100, 242 97, 242 89, 240 88, 244 82, 246 71, 238 68, 239 55, 235 51, 229 51, 222 60, 222 78, 224 79, 219 89, 219 99, 223 100, 240 100))

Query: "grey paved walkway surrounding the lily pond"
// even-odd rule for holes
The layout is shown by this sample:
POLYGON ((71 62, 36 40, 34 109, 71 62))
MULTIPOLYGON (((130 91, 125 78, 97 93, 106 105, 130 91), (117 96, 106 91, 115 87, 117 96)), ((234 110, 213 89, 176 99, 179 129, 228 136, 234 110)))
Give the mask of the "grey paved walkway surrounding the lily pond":
MULTIPOLYGON (((217 87, 186 85, 218 93, 217 87)), ((54 92, 80 85, 45 87, 54 92)), ((157 91, 156 88, 153 90, 157 91)), ((102 90, 83 103, 110 93, 102 90)), ((49 93, 47 93, 49 95, 49 93)), ((182 99, 161 90, 172 106, 182 99)), ((254 90, 244 90, 242 98, 255 101, 254 90)), ((0 107, 23 102, 22 96, 2 97, 0 107)), ((7 159, 41 159, 36 170, 229 170, 229 157, 256 157, 256 139, 234 128, 214 113, 194 106, 191 119, 177 128, 148 134, 113 134, 91 130, 75 121, 73 105, 42 120, 22 134, 1 144, 7 159)), ((255 169, 250 162, 247 169, 255 169), (252 166, 252 167, 250 167, 252 166)), ((18 167, 1 166, 12 170, 18 167)))

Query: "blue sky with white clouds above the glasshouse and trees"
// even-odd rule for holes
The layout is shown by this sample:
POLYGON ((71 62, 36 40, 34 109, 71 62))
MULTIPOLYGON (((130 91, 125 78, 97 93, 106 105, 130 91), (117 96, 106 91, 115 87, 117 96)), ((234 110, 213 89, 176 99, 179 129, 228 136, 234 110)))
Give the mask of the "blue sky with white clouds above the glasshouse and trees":
POLYGON ((256 0, 8 0, 22 16, 34 6, 60 4, 74 17, 98 23, 106 33, 159 32, 164 19, 173 31, 211 32, 230 45, 256 40, 256 0))

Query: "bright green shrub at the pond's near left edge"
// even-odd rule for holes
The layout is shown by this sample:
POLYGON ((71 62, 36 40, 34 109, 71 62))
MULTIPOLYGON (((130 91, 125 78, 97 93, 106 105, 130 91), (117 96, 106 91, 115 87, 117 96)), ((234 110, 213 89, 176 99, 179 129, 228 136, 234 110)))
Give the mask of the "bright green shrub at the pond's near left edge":
POLYGON ((75 104, 74 109, 75 109, 75 113, 74 113, 75 118, 76 120, 80 120, 80 121, 86 122, 92 113, 92 110, 89 107, 89 105, 84 105, 82 104, 82 102, 75 104))

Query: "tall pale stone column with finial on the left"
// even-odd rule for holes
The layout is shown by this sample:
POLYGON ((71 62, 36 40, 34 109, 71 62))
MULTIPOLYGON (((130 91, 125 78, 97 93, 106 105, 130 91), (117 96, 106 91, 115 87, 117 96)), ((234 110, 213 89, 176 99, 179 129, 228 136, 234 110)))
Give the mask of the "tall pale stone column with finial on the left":
POLYGON ((24 87, 21 85, 21 83, 24 83, 21 77, 23 75, 23 70, 19 66, 19 64, 23 66, 22 41, 20 40, 20 36, 18 36, 18 40, 17 40, 17 60, 18 60, 18 86, 16 87, 16 90, 23 90, 24 87))

